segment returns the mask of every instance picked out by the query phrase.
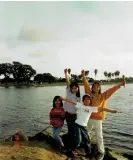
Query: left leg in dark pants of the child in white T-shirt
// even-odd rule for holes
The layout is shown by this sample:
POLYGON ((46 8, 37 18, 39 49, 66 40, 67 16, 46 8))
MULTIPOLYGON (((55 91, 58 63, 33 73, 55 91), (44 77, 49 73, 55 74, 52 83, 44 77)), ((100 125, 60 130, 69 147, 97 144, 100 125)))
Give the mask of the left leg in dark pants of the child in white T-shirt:
POLYGON ((81 143, 81 130, 78 124, 74 123, 74 135, 72 140, 72 149, 76 149, 81 143))

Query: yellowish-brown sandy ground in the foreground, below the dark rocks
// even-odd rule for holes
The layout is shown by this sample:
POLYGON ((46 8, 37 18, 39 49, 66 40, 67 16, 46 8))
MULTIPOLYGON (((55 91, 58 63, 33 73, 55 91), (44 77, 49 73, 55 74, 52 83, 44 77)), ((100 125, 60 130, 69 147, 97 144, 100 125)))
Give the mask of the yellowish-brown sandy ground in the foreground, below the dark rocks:
MULTIPOLYGON (((110 152, 111 156, 117 160, 129 160, 122 154, 110 152)), ((78 158, 68 158, 57 150, 51 148, 45 142, 21 142, 19 146, 14 142, 4 142, 0 144, 0 160, 79 160, 78 158)), ((80 160, 87 160, 85 157, 80 160)), ((89 159, 88 159, 89 160, 89 159)), ((108 159, 109 160, 109 159, 108 159)))

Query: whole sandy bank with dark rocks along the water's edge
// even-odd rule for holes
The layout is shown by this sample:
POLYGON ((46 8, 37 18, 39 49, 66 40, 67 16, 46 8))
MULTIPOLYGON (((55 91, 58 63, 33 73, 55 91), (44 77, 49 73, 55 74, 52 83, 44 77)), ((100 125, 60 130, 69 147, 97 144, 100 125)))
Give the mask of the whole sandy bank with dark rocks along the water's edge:
MULTIPOLYGON (((66 149, 68 142, 67 134, 61 133, 61 138, 64 143, 65 153, 58 151, 55 139, 50 136, 52 127, 46 127, 43 132, 39 132, 32 137, 27 137, 23 132, 17 132, 11 137, 0 142, 0 160, 90 160, 85 157, 83 146, 76 149, 78 156, 75 158, 67 157, 66 149), (15 135, 18 135, 21 141, 12 141, 15 135), (27 138, 26 138, 27 137, 27 138)), ((95 160, 97 153, 96 139, 91 139, 92 158, 95 160)), ((105 148, 105 156, 103 160, 133 160, 133 155, 123 156, 123 153, 118 153, 105 148), (130 157, 130 158, 126 158, 130 157)))

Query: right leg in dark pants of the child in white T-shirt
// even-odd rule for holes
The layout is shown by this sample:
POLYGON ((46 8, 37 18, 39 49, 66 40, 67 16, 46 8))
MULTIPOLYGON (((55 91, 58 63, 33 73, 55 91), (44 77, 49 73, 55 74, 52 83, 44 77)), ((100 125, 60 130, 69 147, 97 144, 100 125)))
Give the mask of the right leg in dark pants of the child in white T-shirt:
POLYGON ((84 142, 85 152, 86 154, 90 154, 91 152, 91 144, 90 144, 90 137, 88 135, 87 127, 81 126, 81 135, 84 142))

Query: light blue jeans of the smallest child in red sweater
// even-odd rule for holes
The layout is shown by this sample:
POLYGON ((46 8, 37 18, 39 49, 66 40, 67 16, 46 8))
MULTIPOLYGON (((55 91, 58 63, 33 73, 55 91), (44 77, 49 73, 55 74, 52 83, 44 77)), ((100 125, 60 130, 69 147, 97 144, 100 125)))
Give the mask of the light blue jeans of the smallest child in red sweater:
POLYGON ((60 132, 61 132, 62 127, 58 127, 58 128, 53 128, 53 137, 55 138, 57 144, 59 147, 63 147, 63 141, 60 137, 60 132))

